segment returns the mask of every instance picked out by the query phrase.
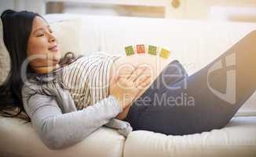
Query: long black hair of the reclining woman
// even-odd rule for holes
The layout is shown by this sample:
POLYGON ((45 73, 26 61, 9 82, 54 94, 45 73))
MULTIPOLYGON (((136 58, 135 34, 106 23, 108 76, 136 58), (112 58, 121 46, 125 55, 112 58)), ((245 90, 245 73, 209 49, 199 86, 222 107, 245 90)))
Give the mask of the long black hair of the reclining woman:
MULTIPOLYGON (((33 20, 38 13, 29 11, 16 12, 5 10, 1 15, 3 40, 10 57, 10 72, 5 82, 0 86, 0 114, 5 117, 16 117, 31 122, 24 111, 21 89, 24 82, 21 79, 21 66, 27 59, 27 41, 31 34, 33 20), (16 110, 15 114, 12 111, 16 110), (9 112, 10 111, 10 112, 9 112)), ((42 17, 42 16, 40 16, 42 17)), ((42 17, 43 19, 43 17, 42 17)), ((74 53, 66 53, 60 59, 60 66, 70 64, 75 60, 74 53)), ((27 75, 39 75, 28 65, 27 75)))

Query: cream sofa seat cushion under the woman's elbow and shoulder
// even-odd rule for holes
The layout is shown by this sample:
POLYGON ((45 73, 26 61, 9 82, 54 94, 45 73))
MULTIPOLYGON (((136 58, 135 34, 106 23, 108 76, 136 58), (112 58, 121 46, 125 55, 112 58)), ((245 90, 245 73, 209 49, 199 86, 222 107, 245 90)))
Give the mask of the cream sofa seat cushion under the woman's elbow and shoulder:
POLYGON ((31 126, 22 119, 0 116, 1 156, 54 156, 54 157, 121 157, 125 137, 116 130, 102 126, 85 140, 62 150, 50 150, 39 139, 31 126))

